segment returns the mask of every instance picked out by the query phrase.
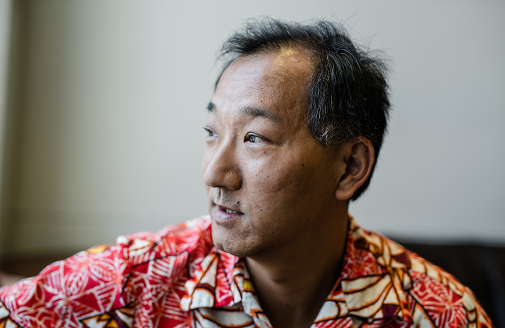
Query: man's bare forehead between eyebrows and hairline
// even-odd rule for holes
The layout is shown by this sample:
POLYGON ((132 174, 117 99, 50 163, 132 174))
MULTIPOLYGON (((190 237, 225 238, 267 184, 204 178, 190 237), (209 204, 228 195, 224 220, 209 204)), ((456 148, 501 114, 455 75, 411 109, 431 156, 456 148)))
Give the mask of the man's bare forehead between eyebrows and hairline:
POLYGON ((297 125, 307 107, 309 61, 296 49, 249 55, 223 72, 210 113, 297 125))

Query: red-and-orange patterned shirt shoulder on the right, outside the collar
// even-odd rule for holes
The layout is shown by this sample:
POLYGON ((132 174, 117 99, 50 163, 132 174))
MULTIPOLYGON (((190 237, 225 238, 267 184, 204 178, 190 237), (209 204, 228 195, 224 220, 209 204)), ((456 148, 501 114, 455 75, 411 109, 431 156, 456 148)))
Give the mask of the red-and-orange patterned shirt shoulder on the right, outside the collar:
POLYGON ((372 252, 391 277, 404 317, 414 324, 492 326, 473 292, 444 269, 381 234, 359 228, 355 235, 355 244, 372 252))

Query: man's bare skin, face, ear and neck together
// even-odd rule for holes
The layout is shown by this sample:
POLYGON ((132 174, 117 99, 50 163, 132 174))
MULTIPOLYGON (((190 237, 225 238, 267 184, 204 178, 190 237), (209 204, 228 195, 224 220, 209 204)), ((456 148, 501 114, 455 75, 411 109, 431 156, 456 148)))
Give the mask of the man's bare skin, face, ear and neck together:
POLYGON ((315 319, 340 273, 348 198, 374 161, 365 138, 324 146, 310 134, 310 72, 293 47, 239 58, 209 104, 202 171, 213 241, 246 257, 275 328, 315 319))

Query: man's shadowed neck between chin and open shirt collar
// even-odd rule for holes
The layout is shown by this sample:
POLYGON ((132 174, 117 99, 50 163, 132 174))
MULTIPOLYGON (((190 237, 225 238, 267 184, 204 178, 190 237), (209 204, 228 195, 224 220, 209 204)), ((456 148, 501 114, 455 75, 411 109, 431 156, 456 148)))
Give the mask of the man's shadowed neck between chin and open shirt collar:
POLYGON ((347 213, 315 228, 317 238, 282 254, 246 258, 260 304, 274 328, 309 327, 340 274, 347 213))

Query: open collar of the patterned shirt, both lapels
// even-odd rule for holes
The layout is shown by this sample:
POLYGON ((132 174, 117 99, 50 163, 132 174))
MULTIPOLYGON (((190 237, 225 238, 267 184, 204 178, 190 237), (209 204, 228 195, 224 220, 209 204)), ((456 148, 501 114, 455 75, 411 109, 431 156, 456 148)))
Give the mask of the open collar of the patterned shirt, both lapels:
MULTIPOLYGON (((316 318, 354 316, 372 322, 398 316, 412 323, 405 291, 412 286, 409 256, 401 246, 360 228, 349 216, 349 231, 340 278, 316 318)), ((264 317, 244 258, 215 247, 186 284, 181 309, 237 307, 264 317)), ((262 318, 267 321, 266 317, 262 318)))

